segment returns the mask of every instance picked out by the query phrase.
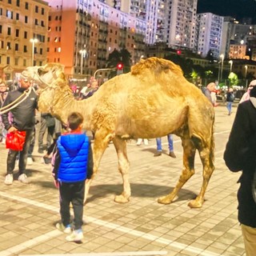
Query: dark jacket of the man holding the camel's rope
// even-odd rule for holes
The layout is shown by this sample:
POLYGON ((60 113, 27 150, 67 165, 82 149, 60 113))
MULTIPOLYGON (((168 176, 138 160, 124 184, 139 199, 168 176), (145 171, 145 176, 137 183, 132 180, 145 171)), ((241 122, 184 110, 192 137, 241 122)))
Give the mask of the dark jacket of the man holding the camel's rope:
MULTIPOLYGON (((9 105, 11 102, 14 102, 19 96, 23 94, 22 88, 18 90, 10 91, 7 94, 6 100, 3 102, 3 106, 9 105)), ((22 98, 18 101, 20 102, 22 98)), ((10 126, 16 127, 18 130, 33 130, 34 128, 34 116, 35 110, 38 108, 38 95, 31 90, 29 96, 14 109, 10 110, 10 113, 13 116, 13 121, 10 123, 8 115, 9 112, 2 114, 2 122, 6 130, 10 129, 10 126)))

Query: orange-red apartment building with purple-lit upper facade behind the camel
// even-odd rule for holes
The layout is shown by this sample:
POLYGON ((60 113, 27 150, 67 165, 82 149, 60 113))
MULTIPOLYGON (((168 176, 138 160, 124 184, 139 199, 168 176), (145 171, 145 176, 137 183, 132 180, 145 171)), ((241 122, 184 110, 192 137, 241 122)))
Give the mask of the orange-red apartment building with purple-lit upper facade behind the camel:
MULTIPOLYGON (((126 48, 132 62, 144 53, 146 22, 102 1, 48 0, 49 62, 66 66, 70 78, 93 75, 106 67, 114 50, 126 48)), ((105 74, 106 75, 106 74, 105 74)))

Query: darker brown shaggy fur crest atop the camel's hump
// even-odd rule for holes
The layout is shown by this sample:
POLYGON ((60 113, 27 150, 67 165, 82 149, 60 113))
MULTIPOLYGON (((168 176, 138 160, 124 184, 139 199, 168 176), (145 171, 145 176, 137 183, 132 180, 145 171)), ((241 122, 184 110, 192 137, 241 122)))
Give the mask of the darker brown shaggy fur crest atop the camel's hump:
POLYGON ((180 66, 164 58, 151 57, 142 59, 140 62, 131 67, 131 74, 143 74, 145 70, 151 70, 155 74, 171 71, 174 74, 183 76, 180 66))

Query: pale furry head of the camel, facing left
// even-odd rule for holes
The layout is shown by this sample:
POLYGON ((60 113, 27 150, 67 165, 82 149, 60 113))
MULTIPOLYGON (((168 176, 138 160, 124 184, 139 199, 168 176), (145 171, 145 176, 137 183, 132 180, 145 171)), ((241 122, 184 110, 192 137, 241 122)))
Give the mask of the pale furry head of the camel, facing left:
POLYGON ((47 63, 45 66, 29 66, 22 72, 22 75, 37 83, 40 89, 52 86, 58 78, 66 81, 64 66, 58 63, 47 63))

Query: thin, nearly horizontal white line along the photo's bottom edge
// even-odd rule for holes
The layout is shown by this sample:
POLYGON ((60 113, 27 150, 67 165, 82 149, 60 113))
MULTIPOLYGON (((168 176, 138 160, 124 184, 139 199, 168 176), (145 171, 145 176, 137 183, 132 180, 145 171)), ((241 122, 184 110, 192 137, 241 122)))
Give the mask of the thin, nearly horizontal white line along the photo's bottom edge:
MULTIPOLYGON (((166 255, 166 250, 158 250, 158 251, 130 251, 130 252, 122 252, 122 253, 93 253, 93 254, 43 254, 44 256, 150 256, 150 255, 166 255)), ((42 254, 21 254, 21 256, 41 256, 42 254)))

